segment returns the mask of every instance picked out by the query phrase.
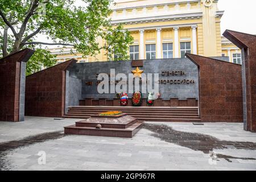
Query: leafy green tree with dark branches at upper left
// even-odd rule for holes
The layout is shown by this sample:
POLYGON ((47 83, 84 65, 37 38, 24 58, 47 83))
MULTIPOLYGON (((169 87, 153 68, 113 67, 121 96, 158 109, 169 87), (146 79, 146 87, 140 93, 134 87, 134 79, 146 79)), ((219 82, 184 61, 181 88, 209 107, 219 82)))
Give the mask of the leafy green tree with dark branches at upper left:
POLYGON ((105 49, 109 59, 114 55, 122 55, 114 60, 128 59, 133 38, 121 24, 115 28, 110 24, 113 0, 82 2, 85 6, 75 6, 75 0, 0 0, 0 54, 5 57, 26 47, 35 49, 28 74, 55 64, 54 56, 42 49, 44 45, 72 46, 86 56, 105 49), (38 42, 38 35, 52 42, 38 42), (106 43, 100 46, 98 38, 106 43))

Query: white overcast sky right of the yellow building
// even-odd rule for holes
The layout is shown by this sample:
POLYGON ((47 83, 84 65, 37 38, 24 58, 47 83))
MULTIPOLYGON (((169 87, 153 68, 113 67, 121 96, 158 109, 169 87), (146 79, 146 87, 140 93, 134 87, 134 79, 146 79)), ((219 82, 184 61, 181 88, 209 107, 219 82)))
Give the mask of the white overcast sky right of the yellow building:
POLYGON ((221 35, 226 30, 256 35, 255 0, 218 0, 218 9, 225 13, 221 18, 221 35))

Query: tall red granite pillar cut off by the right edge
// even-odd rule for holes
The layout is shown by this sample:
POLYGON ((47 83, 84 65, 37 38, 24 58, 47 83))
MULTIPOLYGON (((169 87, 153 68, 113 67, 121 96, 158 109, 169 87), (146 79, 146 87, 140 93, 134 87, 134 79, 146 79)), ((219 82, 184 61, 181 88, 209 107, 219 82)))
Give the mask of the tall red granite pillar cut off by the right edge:
POLYGON ((243 123, 256 132, 256 36, 231 30, 223 35, 242 49, 243 123))

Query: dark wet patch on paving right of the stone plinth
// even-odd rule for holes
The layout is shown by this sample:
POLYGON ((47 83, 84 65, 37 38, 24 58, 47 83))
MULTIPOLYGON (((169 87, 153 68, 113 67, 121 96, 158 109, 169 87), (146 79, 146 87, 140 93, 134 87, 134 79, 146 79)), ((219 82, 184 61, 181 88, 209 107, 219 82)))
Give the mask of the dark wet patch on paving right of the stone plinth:
MULTIPOLYGON (((232 142, 227 140, 220 140, 210 135, 177 131, 167 125, 154 125, 144 123, 143 128, 152 131, 152 136, 160 138, 165 142, 191 148, 195 151, 202 151, 204 154, 210 154, 210 152, 213 152, 214 149, 218 150, 232 147, 243 150, 256 150, 256 143, 253 142, 232 142)), ((228 162, 232 162, 230 159, 256 160, 255 158, 240 158, 223 154, 215 155, 218 159, 222 158, 228 162)))

